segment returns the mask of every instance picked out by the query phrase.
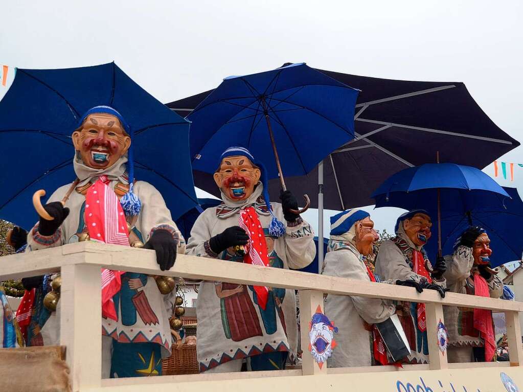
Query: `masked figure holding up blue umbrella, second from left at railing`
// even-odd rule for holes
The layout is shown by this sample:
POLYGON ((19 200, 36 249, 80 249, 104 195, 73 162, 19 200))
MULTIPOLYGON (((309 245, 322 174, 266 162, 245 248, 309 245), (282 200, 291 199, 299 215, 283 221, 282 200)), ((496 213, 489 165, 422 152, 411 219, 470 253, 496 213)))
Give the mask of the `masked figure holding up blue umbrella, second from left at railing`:
MULTIPOLYGON (((214 181, 223 203, 198 217, 188 254, 286 269, 312 262, 314 233, 291 212, 297 200, 286 191, 281 204, 269 202, 265 168, 246 148, 225 150, 214 181)), ((294 359, 294 290, 202 282, 197 314, 201 372, 238 372, 244 358, 253 371, 279 370, 294 359)))

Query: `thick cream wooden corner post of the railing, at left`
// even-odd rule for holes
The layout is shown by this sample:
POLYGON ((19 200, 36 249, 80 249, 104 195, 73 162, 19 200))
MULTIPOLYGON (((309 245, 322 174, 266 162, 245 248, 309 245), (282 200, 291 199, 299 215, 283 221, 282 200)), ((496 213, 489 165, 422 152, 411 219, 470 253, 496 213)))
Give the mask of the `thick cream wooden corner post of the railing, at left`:
POLYGON ((101 271, 62 267, 60 344, 66 347, 73 392, 101 385, 101 271))

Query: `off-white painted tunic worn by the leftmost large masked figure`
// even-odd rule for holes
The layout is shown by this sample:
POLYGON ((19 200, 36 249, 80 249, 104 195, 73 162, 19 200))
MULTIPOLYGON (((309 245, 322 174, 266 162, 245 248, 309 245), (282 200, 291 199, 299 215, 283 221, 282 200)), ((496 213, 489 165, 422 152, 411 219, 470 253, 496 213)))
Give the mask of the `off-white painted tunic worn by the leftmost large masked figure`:
MULTIPOLYGON (((111 180, 109 186, 114 189, 120 182, 127 185, 127 176, 124 175, 126 157, 121 157, 118 162, 107 170, 96 170, 84 166, 75 158, 74 168, 78 178, 83 179, 78 187, 94 183, 99 175, 105 174, 111 180)), ((65 185, 57 189, 49 198, 49 202, 62 200, 65 192, 70 185, 65 185)), ((77 189, 78 189, 77 187, 77 189)), ((185 252, 185 240, 181 236, 176 224, 173 222, 170 212, 160 192, 150 183, 137 181, 134 184, 134 193, 142 202, 142 210, 135 220, 132 232, 143 243, 149 240, 155 229, 166 229, 173 234, 177 241, 177 252, 185 252)), ((52 236, 42 236, 38 233, 38 223, 33 227, 28 235, 27 251, 56 247, 78 241, 77 233, 85 232, 85 195, 73 191, 65 206, 70 209, 69 216, 62 223, 60 228, 52 236)), ((175 291, 170 294, 162 295, 158 290, 155 280, 151 276, 139 273, 126 273, 122 275, 122 289, 120 290, 119 301, 115 305, 118 321, 102 318, 102 333, 111 336, 120 342, 155 342, 162 346, 162 356, 170 355, 170 345, 172 342, 169 327, 169 317, 172 315, 175 300, 175 291), (129 279, 139 279, 142 287, 131 290, 129 279), (134 295, 144 292, 149 301, 152 312, 158 322, 145 324, 135 304, 132 301, 134 295)), ((116 296, 115 296, 116 298, 116 296)), ((42 337, 45 345, 60 344, 60 302, 56 312, 53 312, 42 328, 42 337)))

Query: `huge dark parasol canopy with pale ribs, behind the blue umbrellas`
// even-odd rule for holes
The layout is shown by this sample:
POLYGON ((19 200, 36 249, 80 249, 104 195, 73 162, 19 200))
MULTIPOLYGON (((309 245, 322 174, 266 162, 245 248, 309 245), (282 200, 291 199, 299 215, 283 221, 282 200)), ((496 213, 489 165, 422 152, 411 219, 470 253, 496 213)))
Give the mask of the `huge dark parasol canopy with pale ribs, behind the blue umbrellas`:
MULTIPOLYGON (((386 178, 407 167, 441 162, 483 168, 520 143, 488 118, 463 83, 414 82, 324 71, 361 90, 355 114, 356 138, 324 160, 324 207, 330 210, 370 205, 370 194, 386 178)), ((167 103, 187 116, 213 90, 167 103)), ((219 197, 212 176, 194 172, 195 185, 219 197)), ((296 194, 317 193, 317 168, 287 177, 296 194)), ((271 180, 271 199, 279 196, 271 180)), ((311 200, 317 207, 317 199, 311 200)))

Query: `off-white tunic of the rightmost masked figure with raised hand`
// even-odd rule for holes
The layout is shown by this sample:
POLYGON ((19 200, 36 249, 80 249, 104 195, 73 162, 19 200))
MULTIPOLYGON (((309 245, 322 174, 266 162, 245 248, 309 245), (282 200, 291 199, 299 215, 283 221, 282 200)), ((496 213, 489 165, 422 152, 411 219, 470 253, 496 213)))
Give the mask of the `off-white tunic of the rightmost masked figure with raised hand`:
MULTIPOLYGON (((445 256, 445 262, 447 270, 444 276, 450 291, 474 295, 474 278, 471 275, 471 270, 474 269, 472 248, 458 246, 452 255, 445 256)), ((492 275, 487 280, 487 285, 491 298, 499 298, 503 295, 503 282, 496 275, 492 275)), ((473 327, 473 308, 444 306, 443 314, 449 334, 449 355, 452 348, 484 346, 479 331, 473 327)))

